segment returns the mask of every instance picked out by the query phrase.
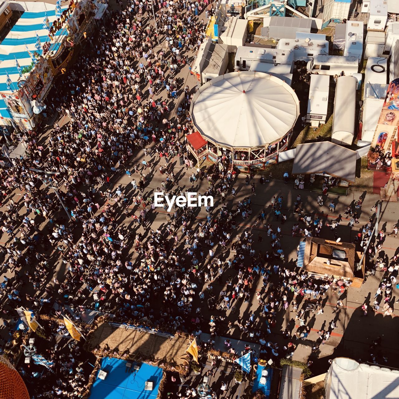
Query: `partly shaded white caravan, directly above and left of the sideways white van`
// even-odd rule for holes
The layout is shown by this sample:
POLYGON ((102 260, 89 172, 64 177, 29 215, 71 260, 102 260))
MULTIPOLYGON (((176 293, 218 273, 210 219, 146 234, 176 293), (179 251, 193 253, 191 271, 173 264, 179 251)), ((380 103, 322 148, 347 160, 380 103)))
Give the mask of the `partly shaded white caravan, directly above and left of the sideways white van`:
POLYGON ((306 39, 280 39, 277 44, 279 50, 292 50, 294 62, 303 63, 310 61, 315 55, 328 54, 327 40, 306 39))

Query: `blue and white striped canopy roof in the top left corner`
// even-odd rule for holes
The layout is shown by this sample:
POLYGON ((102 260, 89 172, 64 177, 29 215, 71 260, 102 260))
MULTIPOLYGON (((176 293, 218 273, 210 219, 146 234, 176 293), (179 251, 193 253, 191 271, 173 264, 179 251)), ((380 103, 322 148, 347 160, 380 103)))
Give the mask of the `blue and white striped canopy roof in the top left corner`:
MULTIPOLYGON (((29 4, 29 3, 25 3, 29 4)), ((45 16, 49 18, 50 24, 56 19, 55 4, 49 3, 31 3, 35 6, 36 10, 26 10, 11 29, 9 34, 0 44, 0 92, 10 93, 7 89, 7 73, 10 76, 11 92, 18 89, 17 82, 20 77, 16 59, 22 69, 32 63, 32 58, 28 50, 33 53, 37 51, 42 54, 43 50, 38 51, 35 47, 38 34, 41 45, 46 41, 50 41, 48 37, 49 31, 43 28, 43 20, 45 16)), ((66 7, 62 7, 65 10, 66 7)), ((66 36, 66 29, 59 30, 55 36, 66 36)), ((58 40, 50 47, 50 51, 55 51, 60 45, 58 40), (53 48, 54 47, 54 48, 53 48)), ((0 116, 10 118, 6 103, 0 98, 0 116)))

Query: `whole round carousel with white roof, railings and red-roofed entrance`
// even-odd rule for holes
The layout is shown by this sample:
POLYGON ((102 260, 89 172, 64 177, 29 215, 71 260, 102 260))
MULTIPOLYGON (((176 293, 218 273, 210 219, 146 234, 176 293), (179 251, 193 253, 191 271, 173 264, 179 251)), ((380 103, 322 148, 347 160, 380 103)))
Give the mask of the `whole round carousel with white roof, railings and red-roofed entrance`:
POLYGON ((201 86, 190 115, 198 133, 187 136, 188 148, 198 161, 206 156, 216 163, 225 155, 248 172, 265 168, 286 150, 299 116, 299 100, 275 76, 239 71, 201 86))

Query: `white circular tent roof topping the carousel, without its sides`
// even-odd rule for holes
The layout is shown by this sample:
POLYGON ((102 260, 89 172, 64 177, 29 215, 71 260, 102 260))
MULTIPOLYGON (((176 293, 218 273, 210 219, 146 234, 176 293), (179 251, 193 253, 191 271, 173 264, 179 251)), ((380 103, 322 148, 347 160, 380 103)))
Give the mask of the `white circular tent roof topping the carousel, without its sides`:
POLYGON ((294 126, 295 92, 281 79, 261 72, 226 73, 201 86, 190 107, 199 132, 226 147, 271 144, 294 126))

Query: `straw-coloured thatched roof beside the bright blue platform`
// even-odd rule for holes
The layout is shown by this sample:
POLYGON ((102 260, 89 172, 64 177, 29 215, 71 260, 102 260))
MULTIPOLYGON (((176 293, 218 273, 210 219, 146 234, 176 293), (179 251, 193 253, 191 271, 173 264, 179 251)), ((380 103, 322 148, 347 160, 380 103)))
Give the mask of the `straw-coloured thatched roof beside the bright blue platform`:
POLYGON ((89 351, 99 347, 101 350, 108 345, 109 349, 118 352, 128 352, 132 357, 141 356, 143 359, 164 360, 176 365, 187 364, 186 350, 190 340, 185 337, 160 336, 140 330, 112 326, 103 322, 89 337, 89 351))

